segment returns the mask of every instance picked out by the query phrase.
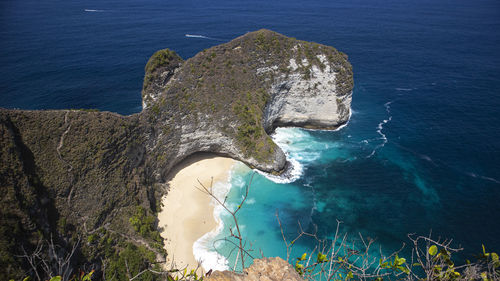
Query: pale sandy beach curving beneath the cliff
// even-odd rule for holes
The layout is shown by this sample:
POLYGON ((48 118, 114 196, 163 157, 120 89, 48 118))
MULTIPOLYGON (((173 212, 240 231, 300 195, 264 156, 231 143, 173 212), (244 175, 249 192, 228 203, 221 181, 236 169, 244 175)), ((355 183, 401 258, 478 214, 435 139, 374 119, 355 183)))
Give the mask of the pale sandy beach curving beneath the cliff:
POLYGON ((193 255, 193 244, 217 227, 213 217, 211 198, 196 187, 198 180, 209 187, 213 183, 227 181, 235 160, 207 155, 192 156, 184 160, 171 173, 169 190, 162 198, 162 210, 158 214, 161 236, 167 250, 166 267, 196 269, 198 261, 193 255))

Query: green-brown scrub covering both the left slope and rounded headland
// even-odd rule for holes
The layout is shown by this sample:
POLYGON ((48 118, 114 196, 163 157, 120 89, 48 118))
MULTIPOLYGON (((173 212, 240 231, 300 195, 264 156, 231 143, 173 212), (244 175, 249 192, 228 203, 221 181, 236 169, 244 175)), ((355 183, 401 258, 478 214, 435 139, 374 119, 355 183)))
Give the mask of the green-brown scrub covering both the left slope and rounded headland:
POLYGON ((292 71, 291 58, 305 77, 313 65, 326 67, 319 53, 328 54, 344 77, 342 91, 350 92, 343 54, 260 30, 201 52, 185 67, 175 52, 155 52, 145 66, 147 109, 140 114, 0 110, 0 279, 23 278, 29 264, 21 249, 32 252, 50 238, 64 249, 80 241, 75 270, 104 263, 106 275, 121 278, 124 263, 131 271, 152 268, 164 254, 157 183, 185 156, 182 134, 217 130, 241 155, 274 161, 277 148, 263 128, 269 89, 292 71))

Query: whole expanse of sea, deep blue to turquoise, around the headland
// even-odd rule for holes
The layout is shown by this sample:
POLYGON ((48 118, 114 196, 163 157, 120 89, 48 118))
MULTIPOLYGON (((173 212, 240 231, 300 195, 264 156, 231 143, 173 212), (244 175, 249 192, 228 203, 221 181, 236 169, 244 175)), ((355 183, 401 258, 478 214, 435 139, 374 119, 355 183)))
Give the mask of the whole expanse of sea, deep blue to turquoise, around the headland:
MULTIPOLYGON (((465 256, 500 250, 498 0, 4 0, 0 107, 140 112, 154 51, 189 58, 260 28, 347 53, 355 87, 345 128, 274 136, 300 177, 254 177, 240 223, 257 251, 284 253, 276 210, 290 236, 341 220, 387 251, 431 230, 465 256)), ((251 173, 235 168, 231 202, 251 173)))

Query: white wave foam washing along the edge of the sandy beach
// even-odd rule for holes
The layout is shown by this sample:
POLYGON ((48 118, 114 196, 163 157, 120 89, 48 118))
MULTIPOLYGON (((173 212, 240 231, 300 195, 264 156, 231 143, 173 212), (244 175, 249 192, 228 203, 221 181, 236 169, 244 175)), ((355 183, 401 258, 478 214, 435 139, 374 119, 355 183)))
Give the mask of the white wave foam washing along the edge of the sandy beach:
MULTIPOLYGON (((226 182, 216 182, 213 185, 213 193, 214 195, 221 200, 225 201, 229 190, 231 189, 231 179, 232 179, 232 170, 229 172, 228 180, 226 182)), ((225 209, 212 199, 211 204, 214 205, 214 219, 217 222, 217 228, 205 233, 200 239, 196 240, 193 244, 193 255, 197 261, 200 262, 201 266, 205 271, 212 270, 228 270, 229 269, 229 261, 219 254, 212 244, 215 241, 216 237, 224 230, 224 222, 222 220, 222 214, 225 212, 225 209)))

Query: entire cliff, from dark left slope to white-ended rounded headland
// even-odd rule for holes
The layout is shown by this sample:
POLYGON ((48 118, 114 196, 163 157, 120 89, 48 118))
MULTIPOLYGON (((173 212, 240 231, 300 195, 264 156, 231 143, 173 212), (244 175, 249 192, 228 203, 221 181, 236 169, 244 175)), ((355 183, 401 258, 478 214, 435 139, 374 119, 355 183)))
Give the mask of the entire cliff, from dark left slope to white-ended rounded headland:
MULTIPOLYGON (((137 244, 128 218, 136 206, 156 211, 161 183, 185 157, 212 152, 278 173, 286 159, 268 135, 276 126, 334 129, 350 114, 346 55, 268 30, 186 61, 158 51, 145 72, 140 114, 0 110, 3 268, 25 267, 16 245, 40 236, 118 233, 137 244)), ((99 251, 83 255, 93 263, 99 251)))

